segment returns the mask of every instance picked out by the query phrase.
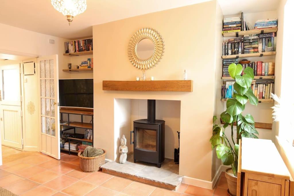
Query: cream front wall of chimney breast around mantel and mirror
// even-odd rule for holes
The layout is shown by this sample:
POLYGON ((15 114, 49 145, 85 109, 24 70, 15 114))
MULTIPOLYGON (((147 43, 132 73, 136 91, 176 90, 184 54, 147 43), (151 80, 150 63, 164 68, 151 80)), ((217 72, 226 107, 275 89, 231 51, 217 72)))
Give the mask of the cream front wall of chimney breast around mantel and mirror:
POLYGON ((214 110, 214 50, 216 1, 160 11, 93 26, 94 146, 105 148, 114 160, 114 99, 181 100, 180 175, 211 181, 212 151, 209 144, 214 110), (103 80, 135 80, 141 71, 128 60, 128 41, 138 29, 152 27, 163 37, 165 51, 147 78, 194 81, 193 92, 102 91, 103 80), (97 64, 96 64, 97 65, 97 64), (112 142, 111 142, 112 141, 112 142))

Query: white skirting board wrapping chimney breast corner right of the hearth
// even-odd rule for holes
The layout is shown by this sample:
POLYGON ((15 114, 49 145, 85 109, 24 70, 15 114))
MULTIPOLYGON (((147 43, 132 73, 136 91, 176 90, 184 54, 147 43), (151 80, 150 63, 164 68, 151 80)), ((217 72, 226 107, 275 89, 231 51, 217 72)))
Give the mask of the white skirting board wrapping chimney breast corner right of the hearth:
POLYGON ((212 181, 201 180, 201 179, 197 179, 197 178, 184 176, 182 182, 185 184, 188 184, 188 185, 203 187, 203 188, 207 188, 207 189, 213 189, 216 184, 216 181, 218 180, 218 177, 220 176, 220 173, 223 171, 222 166, 223 165, 220 165, 220 167, 216 171, 216 175, 214 175, 212 181))

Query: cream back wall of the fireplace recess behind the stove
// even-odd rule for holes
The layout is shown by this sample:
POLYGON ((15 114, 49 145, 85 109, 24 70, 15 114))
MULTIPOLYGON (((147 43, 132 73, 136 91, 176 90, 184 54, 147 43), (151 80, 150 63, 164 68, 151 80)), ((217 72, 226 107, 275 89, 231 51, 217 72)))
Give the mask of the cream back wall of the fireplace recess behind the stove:
MULTIPOLYGON (((179 148, 178 133, 180 131, 181 101, 156 100, 156 119, 165 120, 165 157, 173 159, 174 149, 179 148)), ((147 118, 147 100, 131 100, 131 129, 134 120, 147 118)), ((129 138, 130 133, 128 133, 129 138)), ((133 151, 133 149, 131 149, 133 151)), ((130 149, 129 149, 130 151, 130 149)))

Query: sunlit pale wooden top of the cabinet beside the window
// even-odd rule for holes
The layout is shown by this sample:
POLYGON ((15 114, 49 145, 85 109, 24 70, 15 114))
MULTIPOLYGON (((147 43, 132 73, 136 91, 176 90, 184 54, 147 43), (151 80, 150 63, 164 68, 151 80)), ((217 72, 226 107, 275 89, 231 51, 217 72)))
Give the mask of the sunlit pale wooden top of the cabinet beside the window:
POLYGON ((290 173, 271 140, 242 138, 241 172, 290 179, 290 173))

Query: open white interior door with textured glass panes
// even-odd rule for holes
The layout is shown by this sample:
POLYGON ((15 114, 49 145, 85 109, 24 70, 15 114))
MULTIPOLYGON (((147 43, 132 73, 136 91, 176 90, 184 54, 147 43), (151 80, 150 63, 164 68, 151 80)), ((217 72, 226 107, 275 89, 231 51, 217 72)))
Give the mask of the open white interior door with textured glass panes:
POLYGON ((38 58, 41 152, 60 159, 58 56, 38 58))

